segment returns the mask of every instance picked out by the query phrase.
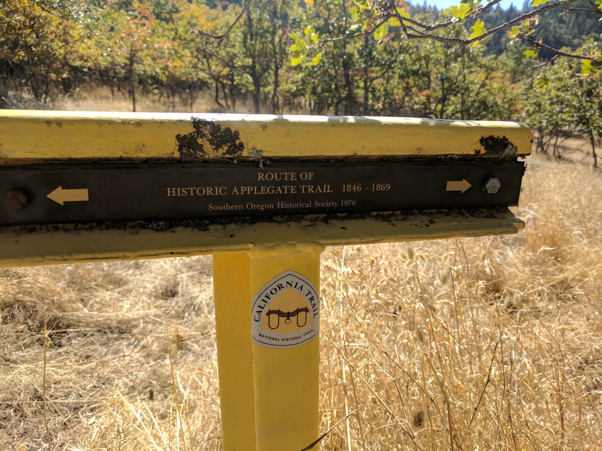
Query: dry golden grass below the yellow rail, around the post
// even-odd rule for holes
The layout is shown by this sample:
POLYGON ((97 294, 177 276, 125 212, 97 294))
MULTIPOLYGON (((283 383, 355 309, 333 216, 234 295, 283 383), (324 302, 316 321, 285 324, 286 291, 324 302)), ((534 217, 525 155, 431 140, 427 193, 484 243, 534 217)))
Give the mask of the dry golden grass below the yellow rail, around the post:
MULTIPOLYGON (((602 176, 515 236, 328 248, 323 450, 602 449, 602 176)), ((1 449, 217 450, 211 257, 0 269, 1 449)))

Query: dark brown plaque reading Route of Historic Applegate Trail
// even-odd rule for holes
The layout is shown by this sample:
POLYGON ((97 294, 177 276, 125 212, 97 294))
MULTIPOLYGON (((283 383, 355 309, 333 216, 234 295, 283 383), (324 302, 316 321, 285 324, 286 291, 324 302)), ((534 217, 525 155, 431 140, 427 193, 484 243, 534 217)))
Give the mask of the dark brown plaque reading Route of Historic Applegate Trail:
POLYGON ((0 168, 0 224, 518 204, 524 163, 29 164, 0 168))

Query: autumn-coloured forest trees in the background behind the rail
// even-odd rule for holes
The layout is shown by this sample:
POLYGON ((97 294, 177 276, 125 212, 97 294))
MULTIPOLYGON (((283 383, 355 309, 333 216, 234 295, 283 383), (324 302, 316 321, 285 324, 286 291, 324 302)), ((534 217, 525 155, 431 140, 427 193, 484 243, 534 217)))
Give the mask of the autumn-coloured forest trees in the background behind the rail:
POLYGON ((5 0, 0 95, 9 108, 8 92, 52 105, 108 87, 127 93, 133 111, 153 95, 172 109, 204 97, 213 111, 523 120, 539 130, 541 150, 566 132, 585 132, 593 145, 602 2, 561 2, 478 45, 453 44, 534 8, 468 14, 476 3, 438 10, 402 1, 391 14, 358 0, 253 0, 244 10, 219 0, 5 0), (240 14, 225 37, 208 36, 240 14), (438 39, 408 39, 406 23, 446 20, 438 39), (544 44, 592 60, 554 58, 544 44))

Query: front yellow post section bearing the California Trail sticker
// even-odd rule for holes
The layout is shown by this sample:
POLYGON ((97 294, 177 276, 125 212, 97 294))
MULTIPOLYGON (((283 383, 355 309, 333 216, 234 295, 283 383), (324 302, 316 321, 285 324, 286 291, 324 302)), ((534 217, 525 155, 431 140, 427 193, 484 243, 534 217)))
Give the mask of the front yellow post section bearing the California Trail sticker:
POLYGON ((319 244, 265 245, 250 253, 258 451, 298 451, 318 437, 323 250, 319 244))

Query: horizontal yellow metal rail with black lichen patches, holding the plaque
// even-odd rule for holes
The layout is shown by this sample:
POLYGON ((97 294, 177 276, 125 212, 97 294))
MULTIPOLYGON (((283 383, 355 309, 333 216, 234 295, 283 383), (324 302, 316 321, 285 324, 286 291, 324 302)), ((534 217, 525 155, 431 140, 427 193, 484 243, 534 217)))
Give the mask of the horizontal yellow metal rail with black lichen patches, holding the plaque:
MULTIPOLYGON (((517 227, 521 227, 520 221, 508 212, 505 205, 486 209, 487 211, 472 207, 455 207, 455 218, 451 218, 448 212, 442 215, 429 213, 429 219, 434 223, 426 227, 421 213, 410 215, 407 211, 423 209, 420 205, 420 195, 418 204, 405 208, 403 213, 397 213, 399 208, 395 208, 393 196, 383 197, 393 203, 379 208, 373 205, 375 197, 368 197, 364 200, 367 206, 361 210, 364 213, 362 218, 358 215, 338 214, 347 210, 342 205, 337 205, 337 209, 331 210, 327 210, 328 207, 321 211, 299 210, 294 221, 282 218, 278 213, 294 214, 296 210, 287 212, 279 208, 278 202, 301 205, 306 203, 303 197, 293 203, 288 202, 284 195, 278 197, 276 194, 276 201, 267 203, 273 206, 270 218, 259 221, 258 215, 264 212, 258 209, 249 212, 246 206, 249 204, 249 198, 253 199, 253 206, 258 205, 260 208, 265 202, 256 201, 261 195, 253 195, 252 192, 246 196, 245 201, 235 204, 244 207, 243 212, 226 211, 230 213, 229 221, 214 219, 225 210, 206 211, 205 216, 199 216, 195 205, 191 207, 191 212, 165 218, 163 214, 172 211, 175 203, 160 206, 157 203, 182 200, 181 195, 169 198, 169 194, 199 194, 202 192, 199 188, 212 188, 198 183, 176 186, 179 171, 191 167, 200 167, 199 170, 204 168, 205 173, 198 177, 207 177, 208 173, 217 173, 218 169, 211 167, 212 164, 225 164, 229 165, 229 168, 220 170, 229 171, 231 177, 245 173, 251 174, 246 176, 249 179, 254 176, 253 168, 258 170, 256 172, 270 175, 270 168, 278 164, 284 165, 282 173, 294 173, 300 164, 305 164, 309 165, 309 169, 301 172, 311 173, 315 162, 324 162, 330 166, 321 168, 325 175, 318 184, 302 183, 302 180, 293 183, 256 180, 252 184, 245 182, 245 186, 241 186, 240 189, 251 189, 253 185, 253 189, 258 185, 264 188, 265 185, 269 185, 265 189, 270 189, 270 186, 273 188, 295 183, 299 192, 305 189, 300 185, 312 185, 312 189, 330 185, 326 189, 335 189, 334 184, 329 182, 341 171, 352 171, 348 176, 349 183, 345 185, 350 185, 350 189, 357 189, 355 185, 358 183, 354 181, 358 174, 353 171, 363 171, 365 165, 370 162, 375 164, 373 171, 376 171, 376 174, 380 170, 376 165, 378 162, 385 162, 386 165, 403 165, 410 161, 439 163, 443 165, 439 171, 443 172, 442 177, 445 178, 447 164, 452 170, 453 164, 464 162, 514 164, 518 156, 530 152, 530 139, 529 127, 505 122, 235 114, 0 111, 0 180, 5 182, 4 185, 0 184, 0 189, 4 190, 0 193, 4 197, 4 204, 0 203, 0 224, 4 225, 0 230, 0 239, 3 242, 0 248, 0 265, 140 259, 216 253, 220 250, 247 251, 255 242, 278 239, 279 242, 293 243, 300 237, 340 245, 513 233, 517 227), (161 173, 161 167, 157 169, 158 162, 166 164, 166 168, 173 168, 167 185, 162 184, 162 179, 167 176, 161 173), (128 176, 121 176, 128 170, 123 167, 105 169, 111 164, 123 164, 128 168, 135 164, 149 164, 152 168, 147 170, 149 172, 146 178, 138 182, 135 177, 138 172, 143 171, 142 169, 134 169, 128 176), (347 166, 342 168, 344 165, 347 166), (23 176, 19 179, 19 176, 13 176, 19 170, 26 171, 34 166, 36 171, 30 170, 27 173, 28 178, 23 176), (97 170, 93 174, 94 177, 87 175, 90 171, 83 170, 92 167, 97 170), (54 180, 41 179, 42 174, 53 170, 57 174, 68 175, 63 178, 57 176, 54 180), (85 175, 78 179, 79 173, 85 175), (11 180, 8 180, 9 178, 11 180), (93 204, 96 201, 95 196, 98 196, 91 191, 92 188, 89 201, 78 201, 77 195, 88 194, 88 191, 84 192, 84 189, 88 189, 84 185, 92 182, 92 179, 106 179, 108 182, 105 185, 115 186, 115 191, 107 195, 113 201, 113 210, 125 210, 125 215, 134 207, 146 203, 149 205, 149 211, 140 212, 143 218, 137 218, 135 215, 128 218, 122 215, 114 219, 111 217, 113 210, 105 204, 93 204), (131 185, 119 188, 118 182, 125 179, 132 180, 131 185), (40 186, 42 182, 45 183, 43 188, 40 186), (152 188, 160 189, 160 194, 151 195, 152 188), (192 188, 196 189, 193 193, 190 191, 192 188), (26 208, 25 204, 28 204, 26 208), (34 215, 36 206, 39 210, 34 215), (88 219, 79 215, 79 211, 85 209, 92 210, 88 219), (386 216, 374 214, 374 211, 383 209, 388 211, 386 216), (314 212, 315 215, 312 214, 314 212), (324 213, 329 215, 328 219, 324 218, 324 213), (27 217, 30 214, 33 216, 27 217), (459 216, 463 216, 464 219, 459 216), (80 217, 82 219, 79 219, 80 217), (248 219, 249 217, 255 219, 248 219), (127 226, 124 225, 126 223, 127 226), (48 224, 52 224, 52 227, 48 224), (203 233, 198 233, 199 229, 203 233), (169 233, 163 233, 167 230, 169 233)), ((412 171, 412 168, 409 168, 409 171, 412 171)), ((483 171, 486 173, 488 168, 483 168, 483 171)), ((517 171, 520 173, 521 169, 515 168, 515 173, 517 171)), ((407 173, 408 168, 401 168, 397 180, 402 180, 406 177, 403 174, 407 173)), ((194 179, 197 176, 190 177, 194 179)), ((417 177, 417 183, 412 182, 412 185, 403 188, 402 195, 396 194, 396 197, 406 198, 412 193, 420 194, 425 189, 429 177, 421 174, 417 177)), ((456 171, 450 174, 449 179, 439 178, 440 191, 450 194, 450 198, 482 193, 480 183, 483 180, 469 180, 472 185, 478 183, 479 186, 462 191, 466 186, 462 183, 467 182, 462 182, 464 177, 461 173, 456 171), (447 192, 445 188, 455 191, 447 192)), ((397 180, 393 180, 393 184, 397 180)), ((98 183, 102 185, 103 182, 101 180, 98 183)), ((516 185, 515 182, 512 183, 516 185)), ((520 180, 518 183, 520 184, 520 180)), ((370 185, 379 188, 378 183, 370 185)), ((259 189, 261 188, 259 186, 259 189)), ((367 192, 366 189, 365 187, 363 193, 367 192)), ((352 191, 335 194, 337 201, 351 203, 358 193, 352 191)), ((386 192, 383 194, 386 195, 386 192)), ((318 194, 308 196, 310 201, 319 200, 318 194)), ((495 199, 497 196, 498 194, 489 198, 495 199)), ((110 200, 105 201, 109 203, 110 200)), ((444 209, 452 208, 451 204, 447 203, 449 198, 440 201, 444 209)), ((331 202, 334 204, 335 201, 331 202)), ((212 205, 227 208, 230 203, 213 202, 212 205)), ((358 213, 358 210, 353 212, 358 213)))

